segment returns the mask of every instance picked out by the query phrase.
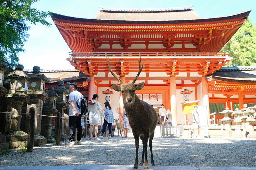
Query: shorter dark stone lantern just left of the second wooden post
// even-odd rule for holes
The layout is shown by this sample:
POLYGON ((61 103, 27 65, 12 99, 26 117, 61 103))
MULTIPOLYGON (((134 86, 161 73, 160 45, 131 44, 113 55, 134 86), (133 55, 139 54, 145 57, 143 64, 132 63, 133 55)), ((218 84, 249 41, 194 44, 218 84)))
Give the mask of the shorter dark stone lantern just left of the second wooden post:
MULTIPOLYGON (((55 116, 55 113, 58 112, 56 109, 57 98, 60 98, 56 92, 53 91, 53 87, 48 87, 48 90, 45 92, 48 94, 48 98, 43 102, 42 115, 46 116, 55 116)), ((42 116, 42 128, 41 135, 47 139, 47 143, 55 142, 55 139, 52 137, 52 117, 42 116)))

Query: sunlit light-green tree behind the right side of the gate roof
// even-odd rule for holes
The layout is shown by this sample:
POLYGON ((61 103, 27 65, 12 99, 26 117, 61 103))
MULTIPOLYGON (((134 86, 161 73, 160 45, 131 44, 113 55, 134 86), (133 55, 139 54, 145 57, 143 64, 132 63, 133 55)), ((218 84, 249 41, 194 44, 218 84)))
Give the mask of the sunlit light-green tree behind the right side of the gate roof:
POLYGON ((220 51, 229 51, 234 60, 227 67, 256 65, 256 25, 248 17, 220 51))

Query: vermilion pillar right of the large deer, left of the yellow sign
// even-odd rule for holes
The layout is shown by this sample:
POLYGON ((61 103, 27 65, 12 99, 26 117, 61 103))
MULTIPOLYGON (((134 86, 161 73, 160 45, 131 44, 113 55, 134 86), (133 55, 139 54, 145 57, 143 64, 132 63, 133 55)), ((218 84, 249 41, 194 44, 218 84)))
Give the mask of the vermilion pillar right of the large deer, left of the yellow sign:
POLYGON ((177 125, 176 77, 170 77, 172 124, 177 125))

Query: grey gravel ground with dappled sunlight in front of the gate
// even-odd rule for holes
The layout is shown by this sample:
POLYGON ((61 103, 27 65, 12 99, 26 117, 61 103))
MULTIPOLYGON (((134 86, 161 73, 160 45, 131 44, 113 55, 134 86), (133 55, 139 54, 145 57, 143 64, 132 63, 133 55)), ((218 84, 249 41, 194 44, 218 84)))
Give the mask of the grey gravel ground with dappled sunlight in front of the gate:
MULTIPOLYGON (((256 140, 173 138, 153 139, 156 166, 256 166, 256 140)), ((142 156, 140 140, 139 163, 142 156)), ((44 144, 34 152, 11 150, 0 156, 0 166, 67 166, 81 164, 133 165, 133 137, 101 140, 82 138, 82 145, 44 144)), ((148 147, 148 161, 151 161, 148 147)), ((149 165, 151 166, 151 165, 149 165)))

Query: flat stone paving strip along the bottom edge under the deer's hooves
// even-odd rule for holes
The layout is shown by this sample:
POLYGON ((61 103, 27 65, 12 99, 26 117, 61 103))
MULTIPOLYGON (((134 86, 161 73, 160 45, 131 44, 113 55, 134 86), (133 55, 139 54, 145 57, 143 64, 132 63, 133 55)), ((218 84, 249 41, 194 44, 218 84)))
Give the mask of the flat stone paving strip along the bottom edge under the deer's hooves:
MULTIPOLYGON (((133 166, 126 165, 78 165, 78 166, 8 166, 0 170, 132 170, 133 166)), ((144 169, 139 166, 138 170, 144 169)), ((193 166, 149 166, 148 170, 256 170, 256 167, 193 167, 193 166)))

